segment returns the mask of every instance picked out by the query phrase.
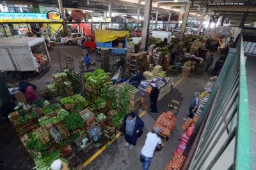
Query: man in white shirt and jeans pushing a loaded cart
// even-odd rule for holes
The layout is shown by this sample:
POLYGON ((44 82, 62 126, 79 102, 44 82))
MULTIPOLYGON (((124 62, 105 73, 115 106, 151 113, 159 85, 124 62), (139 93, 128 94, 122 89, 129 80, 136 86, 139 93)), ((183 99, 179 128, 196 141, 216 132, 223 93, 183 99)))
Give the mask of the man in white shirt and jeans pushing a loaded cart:
POLYGON ((157 136, 160 131, 161 128, 155 127, 152 132, 147 133, 147 139, 140 154, 143 161, 143 170, 147 170, 150 166, 157 145, 163 146, 161 138, 157 136))

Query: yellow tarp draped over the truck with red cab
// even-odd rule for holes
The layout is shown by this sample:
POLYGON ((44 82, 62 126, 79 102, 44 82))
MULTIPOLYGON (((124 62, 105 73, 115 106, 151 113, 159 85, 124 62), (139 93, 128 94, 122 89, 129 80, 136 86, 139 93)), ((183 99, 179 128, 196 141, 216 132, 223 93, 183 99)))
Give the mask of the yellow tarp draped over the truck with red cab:
POLYGON ((106 43, 106 42, 114 41, 117 38, 122 38, 125 36, 127 36, 129 41, 129 38, 130 38, 129 31, 98 30, 95 32, 95 42, 106 43))

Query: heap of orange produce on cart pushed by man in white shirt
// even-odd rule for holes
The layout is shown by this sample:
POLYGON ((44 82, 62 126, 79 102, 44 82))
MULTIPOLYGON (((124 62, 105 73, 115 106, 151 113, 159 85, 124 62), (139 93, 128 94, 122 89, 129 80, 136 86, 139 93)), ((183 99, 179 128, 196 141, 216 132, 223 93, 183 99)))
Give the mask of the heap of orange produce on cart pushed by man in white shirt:
POLYGON ((174 113, 172 111, 166 111, 159 115, 153 128, 160 127, 160 133, 169 137, 171 132, 175 129, 176 122, 177 118, 174 116, 174 113))

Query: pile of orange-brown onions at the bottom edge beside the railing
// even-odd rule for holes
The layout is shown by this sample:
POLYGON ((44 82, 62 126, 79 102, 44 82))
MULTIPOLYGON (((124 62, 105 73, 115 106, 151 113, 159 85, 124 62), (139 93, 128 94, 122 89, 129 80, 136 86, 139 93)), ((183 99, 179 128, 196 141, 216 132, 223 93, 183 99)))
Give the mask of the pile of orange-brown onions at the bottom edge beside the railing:
POLYGON ((175 153, 173 159, 169 162, 165 170, 179 170, 182 169, 182 166, 186 160, 181 154, 175 153))

